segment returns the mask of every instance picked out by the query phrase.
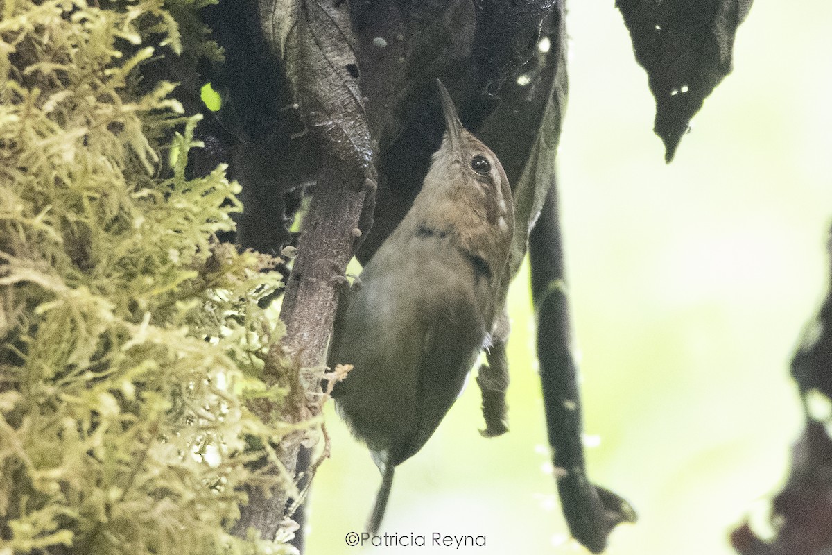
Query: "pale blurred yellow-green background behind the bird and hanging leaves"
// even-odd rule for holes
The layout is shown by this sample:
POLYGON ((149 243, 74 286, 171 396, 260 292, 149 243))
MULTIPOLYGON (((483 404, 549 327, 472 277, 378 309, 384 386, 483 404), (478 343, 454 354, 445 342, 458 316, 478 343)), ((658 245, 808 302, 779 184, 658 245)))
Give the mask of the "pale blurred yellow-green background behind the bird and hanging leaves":
MULTIPOLYGON (((612 0, 573 1, 559 153, 589 473, 636 507, 611 555, 727 555, 788 468, 800 407, 788 363, 826 290, 832 221, 832 4, 758 0, 735 71, 666 166, 646 75, 612 0)), ((478 548, 588 553, 549 475, 527 274, 510 296, 510 432, 483 439, 475 384, 396 472, 383 532, 485 535, 478 548)), ((309 553, 354 553, 379 473, 330 404, 309 553)))

